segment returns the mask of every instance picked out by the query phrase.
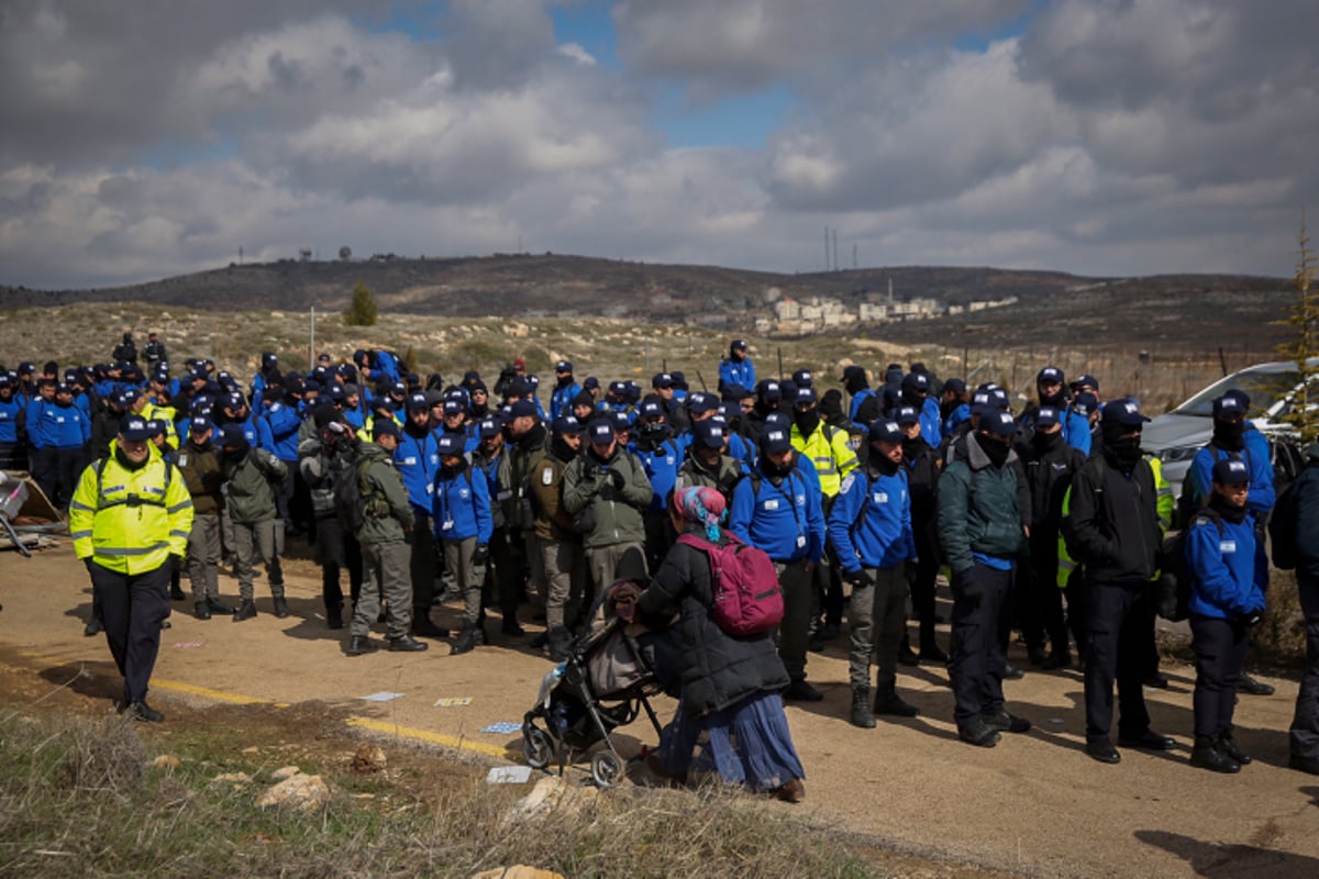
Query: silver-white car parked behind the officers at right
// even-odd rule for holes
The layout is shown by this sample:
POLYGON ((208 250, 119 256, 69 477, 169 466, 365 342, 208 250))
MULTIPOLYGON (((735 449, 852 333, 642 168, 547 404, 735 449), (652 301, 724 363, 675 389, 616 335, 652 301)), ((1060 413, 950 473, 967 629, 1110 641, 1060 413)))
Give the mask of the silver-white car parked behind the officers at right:
POLYGON ((1158 456, 1166 478, 1177 494, 1182 478, 1191 469, 1195 453, 1213 435, 1213 401, 1229 390, 1250 395, 1249 420, 1265 435, 1294 435, 1290 424, 1278 420, 1291 410, 1293 397, 1301 389, 1301 370, 1295 362, 1246 366, 1213 382, 1170 412, 1157 416, 1141 432, 1141 448, 1158 456))

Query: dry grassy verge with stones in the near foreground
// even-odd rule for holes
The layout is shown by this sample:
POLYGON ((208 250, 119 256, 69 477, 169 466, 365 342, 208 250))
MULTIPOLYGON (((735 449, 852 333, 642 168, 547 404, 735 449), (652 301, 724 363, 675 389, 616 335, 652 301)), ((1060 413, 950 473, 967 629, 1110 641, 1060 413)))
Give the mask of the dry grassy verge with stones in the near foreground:
POLYGON ((214 783, 240 768, 236 755, 185 735, 170 739, 179 768, 148 768, 137 730, 120 718, 0 720, 0 875, 466 878, 513 863, 566 876, 884 875, 882 853, 863 861, 803 813, 719 787, 625 785, 509 830, 501 818, 526 788, 328 766, 311 768, 335 791, 324 808, 259 810, 269 767, 245 767, 252 785, 214 783))

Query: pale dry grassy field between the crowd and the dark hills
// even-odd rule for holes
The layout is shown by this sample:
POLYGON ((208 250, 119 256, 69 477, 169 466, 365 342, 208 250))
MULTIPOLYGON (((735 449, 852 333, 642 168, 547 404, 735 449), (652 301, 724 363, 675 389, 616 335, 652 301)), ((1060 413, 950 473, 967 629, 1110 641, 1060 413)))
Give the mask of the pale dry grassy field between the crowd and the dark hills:
MULTIPOLYGON (((281 311, 191 311, 141 303, 86 303, 49 308, 17 308, 0 312, 0 337, 5 339, 7 366, 18 360, 61 365, 99 362, 125 331, 144 343, 148 329, 161 332, 175 368, 186 357, 211 357, 220 369, 248 381, 261 352, 274 351, 286 369, 309 362, 311 322, 307 314, 281 311)), ((806 339, 749 337, 761 376, 790 374, 806 368, 822 387, 839 386, 842 369, 861 364, 881 376, 888 362, 907 365, 923 361, 936 374, 960 376, 972 383, 995 381, 1009 389, 1018 405, 1034 393, 1041 366, 1062 366, 1068 376, 1082 372, 1103 382, 1105 398, 1134 394, 1148 411, 1165 411, 1221 376, 1216 356, 1184 352, 1148 352, 1132 348, 1089 349, 1013 347, 963 348, 936 344, 909 345, 901 327, 889 339, 818 336, 806 339)), ((568 358, 578 378, 588 374, 601 381, 632 378, 649 387, 650 376, 662 369, 681 369, 692 389, 714 390, 719 360, 727 353, 731 333, 703 327, 645 324, 607 318, 441 318, 435 315, 381 314, 375 327, 347 327, 342 315, 317 315, 315 351, 347 360, 356 348, 390 348, 412 352, 417 370, 438 370, 456 380, 476 369, 493 381, 503 364, 526 358, 528 370, 553 382, 553 365, 568 358)), ((1274 358, 1266 351, 1236 351, 1229 369, 1274 358)), ((872 381, 872 385, 877 383, 872 381)))

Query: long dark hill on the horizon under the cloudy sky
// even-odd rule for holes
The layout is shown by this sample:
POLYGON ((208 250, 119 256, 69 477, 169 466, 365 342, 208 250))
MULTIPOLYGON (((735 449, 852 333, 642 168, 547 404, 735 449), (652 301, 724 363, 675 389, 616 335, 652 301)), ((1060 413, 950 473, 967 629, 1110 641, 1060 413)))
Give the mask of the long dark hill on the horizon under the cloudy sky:
POLYGON ((293 261, 232 264, 149 283, 95 290, 0 287, 0 307, 141 302, 215 311, 342 310, 357 282, 383 312, 447 318, 624 318, 700 324, 749 335, 780 298, 822 297, 856 310, 934 299, 942 308, 1012 304, 905 323, 842 324, 826 335, 911 343, 973 344, 983 337, 1038 345, 1157 345, 1204 349, 1231 343, 1265 351, 1285 335, 1273 326, 1290 304, 1283 278, 1155 275, 1086 278, 1060 271, 898 266, 778 274, 719 266, 650 265, 578 256, 293 261))

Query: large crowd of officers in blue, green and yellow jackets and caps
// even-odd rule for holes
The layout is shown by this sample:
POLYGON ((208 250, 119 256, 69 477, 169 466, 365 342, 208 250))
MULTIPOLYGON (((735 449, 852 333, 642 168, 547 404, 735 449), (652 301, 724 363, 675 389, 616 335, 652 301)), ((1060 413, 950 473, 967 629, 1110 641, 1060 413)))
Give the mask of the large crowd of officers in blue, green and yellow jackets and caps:
MULTIPOLYGON (((448 638, 431 613, 460 600, 451 652, 488 643, 487 609, 499 611, 501 638, 522 638, 525 608, 546 623, 533 646, 562 659, 590 623, 592 596, 645 579, 663 557, 673 492, 704 485, 725 497, 732 532, 778 571, 786 698, 820 698, 809 654, 842 634, 845 615, 853 723, 915 716, 897 667, 946 664, 959 737, 993 746, 1030 729, 1002 692, 1005 677, 1024 673, 1008 662, 1020 629, 1043 671, 1072 667, 1078 646, 1087 754, 1120 759, 1115 683, 1117 743, 1174 746, 1150 729, 1142 689, 1166 685, 1151 582, 1174 498, 1158 460, 1141 452, 1148 419, 1136 401, 1101 403, 1091 376, 1067 382, 1042 369, 1035 399, 1014 415, 1006 390, 940 381, 921 364, 890 364, 874 387, 861 366, 838 377, 843 390, 822 390, 807 369, 757 378, 741 340, 715 391, 692 390, 681 372, 656 374, 649 391, 579 383, 568 361, 542 389, 514 361, 492 393, 476 372, 422 380, 390 352, 367 349, 343 362, 322 354, 306 374, 266 353, 244 387, 210 360, 173 370, 154 333, 142 365, 127 333, 115 354, 63 374, 53 362, 41 373, 28 362, 0 369, 0 464, 30 467, 70 510, 96 594, 90 631, 106 626, 125 671, 124 704, 145 720, 158 720, 141 668, 168 625, 162 572, 174 569, 182 598, 177 571, 187 571, 198 618, 240 621, 256 615, 252 563, 264 560, 274 613, 288 615, 278 557, 286 532, 305 534, 331 629, 344 625, 339 576, 348 572, 351 656, 375 650, 377 622, 388 623, 390 650, 448 638), (146 463, 152 478, 131 492, 146 463), (236 610, 218 593, 226 559, 240 577, 236 610), (942 568, 952 596, 947 652, 935 635, 942 568), (149 596, 145 610, 129 613, 138 594, 149 596), (909 598, 919 652, 907 642, 909 598)), ((1240 394, 1215 403, 1215 438, 1192 465, 1182 510, 1196 535, 1206 523, 1221 528, 1224 515, 1252 535, 1235 550, 1249 553, 1248 567, 1211 557, 1228 540, 1188 542, 1199 580, 1231 571, 1245 590, 1231 606, 1221 594, 1219 605, 1202 601, 1192 618, 1198 655, 1216 658, 1198 663, 1192 762, 1219 771, 1249 762, 1223 705, 1253 684, 1241 672, 1244 644, 1268 577, 1253 536, 1274 499, 1248 406, 1240 394), (1225 488, 1240 484, 1248 501, 1225 488)))

